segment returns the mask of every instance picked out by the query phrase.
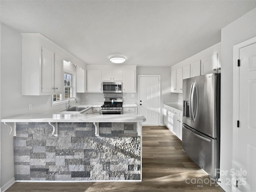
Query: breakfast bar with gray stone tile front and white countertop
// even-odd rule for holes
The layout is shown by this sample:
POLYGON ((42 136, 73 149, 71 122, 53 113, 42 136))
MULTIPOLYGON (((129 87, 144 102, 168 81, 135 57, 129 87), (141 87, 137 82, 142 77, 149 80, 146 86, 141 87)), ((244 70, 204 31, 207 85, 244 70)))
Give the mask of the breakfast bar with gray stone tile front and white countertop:
POLYGON ((2 119, 16 181, 142 180, 142 115, 40 114, 2 119))

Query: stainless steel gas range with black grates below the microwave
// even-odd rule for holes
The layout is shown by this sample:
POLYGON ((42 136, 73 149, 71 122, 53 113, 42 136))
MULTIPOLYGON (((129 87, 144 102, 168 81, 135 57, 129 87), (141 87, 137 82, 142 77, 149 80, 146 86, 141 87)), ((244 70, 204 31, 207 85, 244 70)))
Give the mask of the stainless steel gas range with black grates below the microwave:
POLYGON ((104 98, 104 104, 100 108, 101 114, 123 114, 123 98, 104 98), (113 101, 113 102, 112 102, 113 101))

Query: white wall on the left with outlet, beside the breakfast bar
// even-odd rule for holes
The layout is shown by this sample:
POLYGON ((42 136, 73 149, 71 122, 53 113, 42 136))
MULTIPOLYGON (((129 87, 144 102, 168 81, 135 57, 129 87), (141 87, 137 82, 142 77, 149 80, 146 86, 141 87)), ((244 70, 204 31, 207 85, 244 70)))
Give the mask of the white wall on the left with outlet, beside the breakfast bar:
MULTIPOLYGON (((19 114, 42 113, 65 108, 65 104, 51 106, 51 96, 21 95, 22 38, 20 32, 1 24, 1 118, 19 114), (28 104, 32 110, 28 111, 28 104)), ((69 68, 72 70, 72 68, 69 68)), ((74 71, 76 68, 74 67, 74 71)), ((13 136, 1 123, 1 188, 14 177, 13 136)))

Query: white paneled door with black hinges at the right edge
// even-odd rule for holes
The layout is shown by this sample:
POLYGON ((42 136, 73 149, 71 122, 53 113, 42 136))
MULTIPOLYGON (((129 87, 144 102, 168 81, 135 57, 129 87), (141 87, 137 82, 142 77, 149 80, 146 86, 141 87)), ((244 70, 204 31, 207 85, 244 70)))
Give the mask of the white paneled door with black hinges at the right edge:
POLYGON ((256 192, 256 43, 240 48, 237 177, 240 192, 256 192))

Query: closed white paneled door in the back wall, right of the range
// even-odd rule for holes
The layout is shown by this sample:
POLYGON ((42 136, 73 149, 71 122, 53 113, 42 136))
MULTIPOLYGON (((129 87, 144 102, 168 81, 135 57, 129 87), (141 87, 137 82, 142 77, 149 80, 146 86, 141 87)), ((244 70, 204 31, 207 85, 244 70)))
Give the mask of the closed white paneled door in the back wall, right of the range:
POLYGON ((160 112, 160 76, 139 76, 139 113, 143 125, 158 125, 160 112))

